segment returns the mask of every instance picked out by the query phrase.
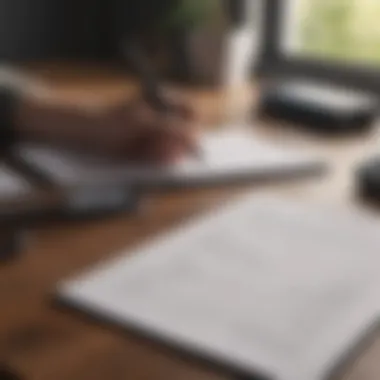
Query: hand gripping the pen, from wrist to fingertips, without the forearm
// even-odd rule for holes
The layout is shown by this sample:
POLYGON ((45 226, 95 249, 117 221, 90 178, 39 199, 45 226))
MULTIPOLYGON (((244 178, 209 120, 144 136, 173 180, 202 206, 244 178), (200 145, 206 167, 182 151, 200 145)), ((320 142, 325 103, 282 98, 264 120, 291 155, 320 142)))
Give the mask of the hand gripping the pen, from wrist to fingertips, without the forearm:
POLYGON ((170 114, 154 110, 143 99, 108 110, 99 119, 108 125, 103 140, 107 154, 157 164, 193 154, 197 145, 196 112, 178 94, 168 95, 167 103, 170 114))

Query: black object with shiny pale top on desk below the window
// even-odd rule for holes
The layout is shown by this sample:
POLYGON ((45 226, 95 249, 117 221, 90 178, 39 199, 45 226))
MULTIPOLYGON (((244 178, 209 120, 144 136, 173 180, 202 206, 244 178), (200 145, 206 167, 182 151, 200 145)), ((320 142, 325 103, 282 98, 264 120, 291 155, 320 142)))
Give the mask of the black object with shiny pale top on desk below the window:
POLYGON ((260 116, 331 135, 365 132, 377 112, 377 100, 367 94, 301 80, 273 83, 259 101, 260 116))

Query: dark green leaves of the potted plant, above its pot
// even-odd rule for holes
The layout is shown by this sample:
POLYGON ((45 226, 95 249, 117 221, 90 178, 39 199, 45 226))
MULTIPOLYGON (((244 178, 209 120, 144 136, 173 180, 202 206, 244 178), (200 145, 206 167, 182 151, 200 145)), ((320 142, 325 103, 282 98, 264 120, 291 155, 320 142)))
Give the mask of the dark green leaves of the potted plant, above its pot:
POLYGON ((194 29, 217 11, 220 0, 177 0, 163 22, 165 29, 194 29))

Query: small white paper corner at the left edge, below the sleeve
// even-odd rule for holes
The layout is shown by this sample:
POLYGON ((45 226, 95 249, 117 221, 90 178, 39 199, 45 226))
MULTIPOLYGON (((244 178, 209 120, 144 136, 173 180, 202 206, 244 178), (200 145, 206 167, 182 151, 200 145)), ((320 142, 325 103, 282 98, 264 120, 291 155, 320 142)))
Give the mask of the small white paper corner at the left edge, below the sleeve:
POLYGON ((26 179, 0 164, 0 199, 22 196, 30 191, 31 186, 26 179))

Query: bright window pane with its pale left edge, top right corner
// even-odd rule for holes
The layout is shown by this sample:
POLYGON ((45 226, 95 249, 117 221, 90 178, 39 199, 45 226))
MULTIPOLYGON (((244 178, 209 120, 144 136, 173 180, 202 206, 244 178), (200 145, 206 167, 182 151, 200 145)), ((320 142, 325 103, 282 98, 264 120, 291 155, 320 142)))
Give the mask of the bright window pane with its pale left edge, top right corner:
POLYGON ((380 68, 380 0, 282 0, 281 53, 380 68))

